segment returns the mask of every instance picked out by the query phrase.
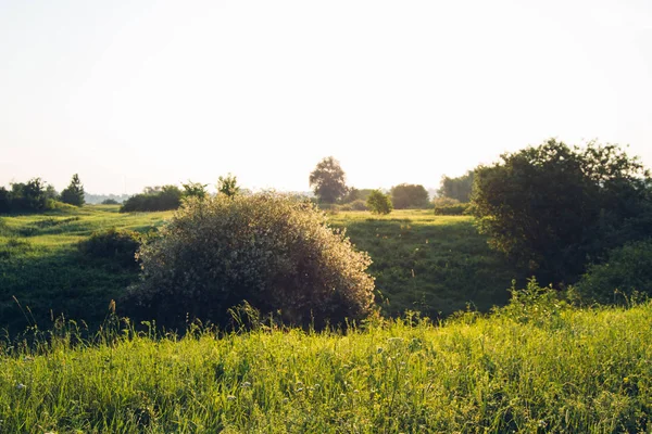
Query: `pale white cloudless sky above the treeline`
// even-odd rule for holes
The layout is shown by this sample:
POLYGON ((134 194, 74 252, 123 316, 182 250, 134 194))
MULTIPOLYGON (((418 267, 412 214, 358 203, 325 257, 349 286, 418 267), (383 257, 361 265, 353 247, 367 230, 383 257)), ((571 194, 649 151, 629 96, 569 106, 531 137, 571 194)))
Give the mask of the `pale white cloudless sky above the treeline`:
POLYGON ((437 187, 556 137, 652 166, 652 1, 0 0, 0 184, 437 187))

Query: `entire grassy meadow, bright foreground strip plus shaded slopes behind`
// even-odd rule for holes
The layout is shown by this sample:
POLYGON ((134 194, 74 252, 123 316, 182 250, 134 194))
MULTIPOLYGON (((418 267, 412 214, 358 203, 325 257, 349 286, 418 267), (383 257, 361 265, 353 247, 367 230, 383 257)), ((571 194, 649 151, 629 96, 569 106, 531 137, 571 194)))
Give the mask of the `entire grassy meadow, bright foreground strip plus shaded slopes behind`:
POLYGON ((534 282, 510 302, 516 271, 469 217, 329 215, 381 308, 346 331, 240 310, 180 334, 122 318, 138 268, 77 248, 171 216, 0 218, 0 433, 652 432, 652 302, 578 308, 534 282))

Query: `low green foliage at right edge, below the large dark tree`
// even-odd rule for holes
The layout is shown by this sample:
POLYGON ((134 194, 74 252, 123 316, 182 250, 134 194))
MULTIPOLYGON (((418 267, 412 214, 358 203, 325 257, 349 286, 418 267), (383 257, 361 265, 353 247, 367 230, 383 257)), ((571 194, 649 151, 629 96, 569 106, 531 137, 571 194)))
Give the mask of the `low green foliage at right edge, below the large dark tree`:
POLYGON ((637 293, 652 295, 652 241, 611 251, 604 264, 588 267, 575 290, 584 301, 600 303, 627 302, 637 293))

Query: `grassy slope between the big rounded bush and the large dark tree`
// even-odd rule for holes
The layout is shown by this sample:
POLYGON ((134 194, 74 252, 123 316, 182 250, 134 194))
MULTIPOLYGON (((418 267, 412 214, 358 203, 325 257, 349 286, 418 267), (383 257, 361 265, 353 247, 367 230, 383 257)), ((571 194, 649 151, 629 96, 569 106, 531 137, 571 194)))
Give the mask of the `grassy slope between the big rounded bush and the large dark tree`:
POLYGON ((467 304, 487 311, 506 303, 506 289, 521 277, 502 255, 489 250, 471 217, 417 209, 388 216, 347 212, 330 220, 372 256, 369 271, 390 316, 411 309, 435 318, 467 304))

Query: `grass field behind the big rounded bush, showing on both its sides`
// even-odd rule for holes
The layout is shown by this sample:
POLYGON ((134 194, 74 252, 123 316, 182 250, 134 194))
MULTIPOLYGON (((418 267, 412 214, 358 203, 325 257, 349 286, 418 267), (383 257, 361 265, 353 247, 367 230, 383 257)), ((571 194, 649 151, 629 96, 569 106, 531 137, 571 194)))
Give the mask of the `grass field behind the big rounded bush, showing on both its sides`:
MULTIPOLYGON (((137 279, 137 269, 86 257, 77 243, 111 227, 147 232, 172 216, 117 209, 96 205, 0 217, 0 328, 12 333, 33 322, 47 328, 61 314, 91 326, 103 320, 109 302, 137 279)), ((386 315, 410 309, 437 317, 465 309, 467 303, 488 310, 506 302, 516 271, 487 247, 469 217, 396 210, 386 217, 350 212, 329 219, 371 254, 369 271, 386 315)))

